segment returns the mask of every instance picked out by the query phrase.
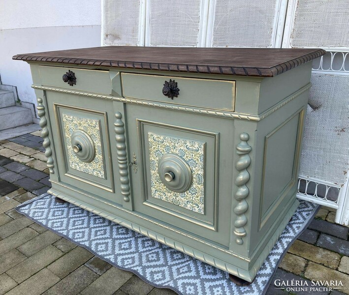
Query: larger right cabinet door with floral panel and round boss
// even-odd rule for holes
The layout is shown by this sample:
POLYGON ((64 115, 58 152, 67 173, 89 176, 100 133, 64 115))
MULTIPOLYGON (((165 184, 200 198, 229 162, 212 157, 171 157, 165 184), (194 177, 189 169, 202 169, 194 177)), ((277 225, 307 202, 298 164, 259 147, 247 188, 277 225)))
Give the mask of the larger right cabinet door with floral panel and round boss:
POLYGON ((233 121, 127 105, 127 127, 134 209, 228 246, 233 121))

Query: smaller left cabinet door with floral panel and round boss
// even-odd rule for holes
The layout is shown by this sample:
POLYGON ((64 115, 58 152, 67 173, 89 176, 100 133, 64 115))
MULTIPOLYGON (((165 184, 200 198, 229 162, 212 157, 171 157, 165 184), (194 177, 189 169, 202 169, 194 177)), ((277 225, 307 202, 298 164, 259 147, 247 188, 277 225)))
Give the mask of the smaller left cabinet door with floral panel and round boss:
POLYGON ((113 177, 111 154, 116 154, 116 145, 109 140, 115 118, 113 103, 48 91, 46 97, 60 183, 122 204, 113 177))

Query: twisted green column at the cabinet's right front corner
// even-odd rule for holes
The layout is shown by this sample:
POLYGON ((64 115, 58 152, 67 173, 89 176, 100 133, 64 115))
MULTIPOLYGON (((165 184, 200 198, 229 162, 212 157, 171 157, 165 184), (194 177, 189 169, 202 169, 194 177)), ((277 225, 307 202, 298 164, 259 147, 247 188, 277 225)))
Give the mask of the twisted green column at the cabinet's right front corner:
POLYGON ((245 215, 248 204, 246 198, 249 195, 249 189, 246 183, 250 180, 250 174, 247 168, 251 164, 251 157, 249 156, 252 148, 249 146, 247 141, 250 139, 247 133, 240 134, 241 142, 236 146, 236 153, 239 155, 239 159, 236 162, 235 168, 239 171, 238 176, 235 179, 235 184, 238 189, 235 193, 235 200, 237 201, 234 207, 234 213, 237 215, 234 221, 234 235, 237 236, 236 243, 242 245, 244 243, 243 237, 246 236, 246 231, 244 226, 247 224, 247 217, 245 215))

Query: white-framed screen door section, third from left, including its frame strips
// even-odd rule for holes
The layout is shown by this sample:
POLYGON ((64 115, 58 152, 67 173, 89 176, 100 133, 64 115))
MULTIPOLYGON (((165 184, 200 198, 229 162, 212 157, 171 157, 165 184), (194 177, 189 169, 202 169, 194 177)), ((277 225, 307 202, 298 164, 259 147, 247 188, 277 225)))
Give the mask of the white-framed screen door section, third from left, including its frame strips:
POLYGON ((281 47, 287 0, 210 0, 206 47, 281 47))

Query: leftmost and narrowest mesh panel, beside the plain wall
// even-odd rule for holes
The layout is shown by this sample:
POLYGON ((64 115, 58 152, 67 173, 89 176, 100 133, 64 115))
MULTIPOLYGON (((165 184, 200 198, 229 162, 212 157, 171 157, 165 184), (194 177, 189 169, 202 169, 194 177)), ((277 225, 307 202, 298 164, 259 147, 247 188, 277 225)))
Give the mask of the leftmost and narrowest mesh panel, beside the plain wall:
POLYGON ((140 0, 104 0, 104 44, 139 43, 140 0))

